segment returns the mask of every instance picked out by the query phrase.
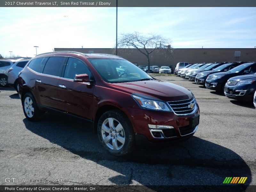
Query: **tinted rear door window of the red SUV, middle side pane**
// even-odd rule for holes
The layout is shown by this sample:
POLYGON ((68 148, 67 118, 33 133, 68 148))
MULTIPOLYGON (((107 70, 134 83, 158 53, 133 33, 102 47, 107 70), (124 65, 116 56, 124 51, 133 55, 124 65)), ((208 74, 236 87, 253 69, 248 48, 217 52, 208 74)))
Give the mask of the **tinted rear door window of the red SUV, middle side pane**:
POLYGON ((52 76, 61 76, 63 63, 67 57, 50 57, 44 66, 44 74, 52 76))

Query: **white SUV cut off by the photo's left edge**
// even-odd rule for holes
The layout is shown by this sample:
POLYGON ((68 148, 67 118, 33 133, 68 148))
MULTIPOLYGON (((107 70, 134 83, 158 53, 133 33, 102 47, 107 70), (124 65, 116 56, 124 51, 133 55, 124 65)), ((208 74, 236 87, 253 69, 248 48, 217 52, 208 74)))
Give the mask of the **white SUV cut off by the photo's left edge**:
POLYGON ((7 86, 7 72, 8 69, 12 67, 16 60, 0 60, 0 86, 6 87, 7 86))

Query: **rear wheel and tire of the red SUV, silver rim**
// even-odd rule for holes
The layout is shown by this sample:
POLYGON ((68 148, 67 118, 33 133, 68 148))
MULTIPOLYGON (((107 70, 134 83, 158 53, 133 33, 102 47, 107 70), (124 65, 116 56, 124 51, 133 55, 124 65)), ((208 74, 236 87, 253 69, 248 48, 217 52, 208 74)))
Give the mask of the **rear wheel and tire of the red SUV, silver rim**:
POLYGON ((24 115, 29 121, 38 121, 43 116, 43 111, 37 107, 36 100, 31 93, 26 93, 22 98, 24 115))

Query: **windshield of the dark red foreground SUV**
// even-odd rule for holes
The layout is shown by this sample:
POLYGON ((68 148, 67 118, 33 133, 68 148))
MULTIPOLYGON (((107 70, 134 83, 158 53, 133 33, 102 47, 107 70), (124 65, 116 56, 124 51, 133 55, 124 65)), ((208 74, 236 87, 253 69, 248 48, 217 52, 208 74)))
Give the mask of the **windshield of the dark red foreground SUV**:
POLYGON ((153 80, 146 72, 127 60, 88 59, 88 61, 108 83, 153 80))

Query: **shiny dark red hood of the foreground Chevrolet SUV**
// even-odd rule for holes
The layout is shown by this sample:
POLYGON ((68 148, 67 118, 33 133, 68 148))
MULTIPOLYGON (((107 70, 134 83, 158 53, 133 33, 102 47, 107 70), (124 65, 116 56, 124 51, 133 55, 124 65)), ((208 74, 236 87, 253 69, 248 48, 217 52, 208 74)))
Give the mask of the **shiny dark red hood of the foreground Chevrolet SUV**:
POLYGON ((162 80, 115 83, 113 86, 130 93, 148 95, 163 101, 185 100, 192 97, 188 89, 162 80))

